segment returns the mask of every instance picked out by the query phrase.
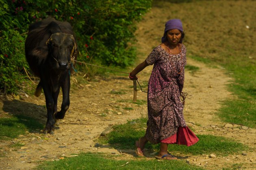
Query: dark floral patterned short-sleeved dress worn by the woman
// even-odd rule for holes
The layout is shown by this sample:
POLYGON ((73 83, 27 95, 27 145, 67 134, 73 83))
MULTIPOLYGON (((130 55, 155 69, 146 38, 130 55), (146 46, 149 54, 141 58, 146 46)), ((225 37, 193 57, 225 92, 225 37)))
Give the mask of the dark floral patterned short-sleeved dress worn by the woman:
POLYGON ((183 44, 179 45, 179 54, 169 54, 158 45, 146 58, 149 65, 154 64, 148 83, 148 127, 145 134, 153 144, 176 135, 178 127, 187 127, 180 101, 187 50, 183 44))

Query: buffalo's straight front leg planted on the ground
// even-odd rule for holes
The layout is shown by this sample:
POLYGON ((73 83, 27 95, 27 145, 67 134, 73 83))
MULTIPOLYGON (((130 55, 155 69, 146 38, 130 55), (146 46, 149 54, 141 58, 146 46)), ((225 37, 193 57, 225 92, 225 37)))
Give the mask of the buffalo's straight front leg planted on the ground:
POLYGON ((52 90, 50 90, 48 84, 44 81, 42 83, 43 92, 46 97, 46 108, 47 108, 47 122, 46 127, 44 129, 45 133, 54 134, 54 119, 53 119, 53 111, 54 111, 54 100, 52 99, 52 90))

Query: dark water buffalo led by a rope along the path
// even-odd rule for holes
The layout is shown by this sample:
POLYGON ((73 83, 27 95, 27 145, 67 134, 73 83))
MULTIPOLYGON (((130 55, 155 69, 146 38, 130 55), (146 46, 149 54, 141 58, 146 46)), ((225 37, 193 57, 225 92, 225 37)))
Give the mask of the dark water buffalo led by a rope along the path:
POLYGON ((25 42, 26 60, 30 69, 40 78, 35 96, 42 88, 46 98, 47 122, 45 133, 54 134, 54 124, 63 119, 69 108, 70 69, 78 55, 76 39, 68 22, 47 18, 29 26, 25 42), (63 99, 57 112, 60 88, 63 99))

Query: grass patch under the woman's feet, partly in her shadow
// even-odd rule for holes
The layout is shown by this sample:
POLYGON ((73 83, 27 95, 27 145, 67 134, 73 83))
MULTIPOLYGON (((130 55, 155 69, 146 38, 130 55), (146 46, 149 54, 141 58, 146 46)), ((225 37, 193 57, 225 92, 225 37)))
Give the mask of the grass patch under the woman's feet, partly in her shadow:
MULTIPOLYGON (((147 119, 140 118, 133 121, 128 121, 124 125, 113 126, 113 131, 105 137, 100 138, 100 142, 111 144, 120 149, 135 148, 135 141, 145 134, 147 119)), ((182 153, 189 155, 201 155, 215 153, 217 155, 227 155, 240 153, 248 150, 248 147, 234 141, 230 138, 213 135, 197 135, 199 142, 193 146, 184 146, 170 144, 168 150, 172 153, 182 153)), ((153 151, 158 151, 160 144, 147 143, 145 148, 153 151)))

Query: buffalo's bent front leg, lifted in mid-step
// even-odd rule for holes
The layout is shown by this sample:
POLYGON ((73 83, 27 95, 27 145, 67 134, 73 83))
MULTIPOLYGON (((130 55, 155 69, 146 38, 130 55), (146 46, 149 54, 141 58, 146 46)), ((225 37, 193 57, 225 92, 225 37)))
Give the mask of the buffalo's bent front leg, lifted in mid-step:
POLYGON ((67 109, 69 108, 69 89, 70 89, 70 78, 69 75, 66 76, 66 79, 64 83, 61 85, 62 88, 62 94, 63 94, 63 99, 62 99, 62 104, 61 104, 61 111, 57 112, 55 115, 56 119, 63 119, 65 116, 65 113, 67 112, 67 109))

